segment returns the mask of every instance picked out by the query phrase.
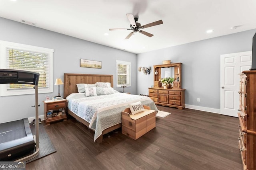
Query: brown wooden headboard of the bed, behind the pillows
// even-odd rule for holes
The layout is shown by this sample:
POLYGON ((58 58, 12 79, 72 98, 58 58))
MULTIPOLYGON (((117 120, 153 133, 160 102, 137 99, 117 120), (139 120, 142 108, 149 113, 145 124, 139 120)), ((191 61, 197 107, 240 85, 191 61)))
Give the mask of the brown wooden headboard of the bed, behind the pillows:
POLYGON ((76 84, 95 84, 96 82, 110 82, 113 87, 113 75, 64 73, 64 98, 72 93, 78 93, 76 84))

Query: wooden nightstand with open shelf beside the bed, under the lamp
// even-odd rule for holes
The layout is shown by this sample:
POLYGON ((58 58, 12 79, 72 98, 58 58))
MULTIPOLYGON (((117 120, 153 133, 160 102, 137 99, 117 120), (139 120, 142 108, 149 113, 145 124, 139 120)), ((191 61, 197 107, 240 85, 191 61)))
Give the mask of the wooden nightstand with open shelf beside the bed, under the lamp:
POLYGON ((44 122, 46 125, 50 125, 50 122, 58 121, 64 119, 67 120, 66 112, 62 112, 63 109, 66 109, 66 99, 62 100, 44 100, 44 122), (58 113, 58 115, 47 116, 47 112, 52 111, 53 113, 58 113))

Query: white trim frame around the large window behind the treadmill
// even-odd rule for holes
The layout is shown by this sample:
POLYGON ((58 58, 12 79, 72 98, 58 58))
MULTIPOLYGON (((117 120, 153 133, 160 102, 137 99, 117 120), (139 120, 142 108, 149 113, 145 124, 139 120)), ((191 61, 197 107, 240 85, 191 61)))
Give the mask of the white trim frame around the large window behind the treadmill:
MULTIPOLYGON (((8 41, 0 41, 0 68, 6 69, 6 48, 26 49, 29 51, 38 51, 49 54, 49 88, 38 89, 38 93, 52 93, 53 92, 53 49, 36 47, 32 45, 25 45, 20 43, 13 43, 8 41)), ((0 96, 14 96, 24 94, 34 94, 34 89, 24 90, 7 90, 6 84, 0 84, 0 96)))

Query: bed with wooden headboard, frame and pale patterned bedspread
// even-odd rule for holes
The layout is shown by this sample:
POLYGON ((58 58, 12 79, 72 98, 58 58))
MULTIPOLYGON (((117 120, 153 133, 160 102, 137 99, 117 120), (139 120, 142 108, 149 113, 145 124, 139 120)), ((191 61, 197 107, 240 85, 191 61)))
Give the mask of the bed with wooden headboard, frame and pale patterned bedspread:
MULTIPOLYGON (((104 86, 103 86, 104 87, 104 86)), ((119 93, 113 89, 113 75, 64 74, 64 98, 68 100, 68 113, 94 131, 94 141, 101 143, 103 135, 121 127, 121 112, 128 104, 140 101, 150 109, 157 110, 147 96, 119 93), (78 93, 76 84, 109 83, 104 95, 86 97, 78 93), (112 89, 112 90, 111 90, 112 89), (111 92, 108 93, 108 90, 111 92)))

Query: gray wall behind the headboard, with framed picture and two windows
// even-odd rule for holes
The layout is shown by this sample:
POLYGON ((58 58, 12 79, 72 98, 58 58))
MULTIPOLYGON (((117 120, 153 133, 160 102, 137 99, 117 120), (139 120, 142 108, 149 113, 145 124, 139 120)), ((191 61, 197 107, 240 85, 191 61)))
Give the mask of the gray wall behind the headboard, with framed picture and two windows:
MULTIPOLYGON (((126 88, 125 91, 136 94, 136 54, 4 18, 0 18, 0 25, 0 40, 2 41, 54 49, 54 82, 56 78, 61 78, 64 81, 64 73, 113 74, 114 89, 122 91, 122 88, 116 88, 116 60, 128 61, 132 63, 133 76, 131 80, 132 86, 126 88), (80 67, 80 59, 102 61, 102 69, 80 67)), ((61 95, 63 95, 63 87, 60 85, 61 95)), ((39 94, 38 100, 41 105, 39 107, 39 115, 44 114, 42 101, 45 100, 45 96, 50 95, 52 97, 58 94, 58 86, 54 86, 53 90, 51 94, 39 94)), ((34 117, 35 109, 30 107, 34 106, 34 104, 34 95, 0 97, 0 123, 24 117, 34 117)))

